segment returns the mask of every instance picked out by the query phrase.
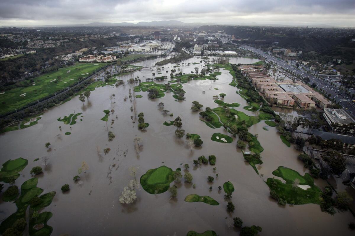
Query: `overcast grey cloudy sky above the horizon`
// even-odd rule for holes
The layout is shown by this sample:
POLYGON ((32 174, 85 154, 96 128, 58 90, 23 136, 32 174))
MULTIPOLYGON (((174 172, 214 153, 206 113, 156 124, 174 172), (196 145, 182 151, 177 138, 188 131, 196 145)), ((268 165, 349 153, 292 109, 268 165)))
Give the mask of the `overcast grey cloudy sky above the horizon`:
POLYGON ((1 0, 0 25, 179 20, 355 27, 355 0, 1 0))

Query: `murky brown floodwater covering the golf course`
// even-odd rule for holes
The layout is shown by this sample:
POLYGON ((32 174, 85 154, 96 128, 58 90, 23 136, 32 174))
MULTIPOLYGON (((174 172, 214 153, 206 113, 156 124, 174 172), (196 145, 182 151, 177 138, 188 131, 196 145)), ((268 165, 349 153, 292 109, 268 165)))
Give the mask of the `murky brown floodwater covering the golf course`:
MULTIPOLYGON (((244 63, 245 60, 252 63, 253 59, 243 58, 244 63)), ((184 63, 199 61, 200 58, 195 57, 184 63)), ((151 60, 136 64, 149 67, 155 62, 156 60, 151 60)), ((203 64, 184 65, 175 69, 177 72, 180 68, 189 73, 195 67, 201 68, 201 65, 203 64)), ((170 77, 173 65, 163 67, 166 69, 163 69, 162 73, 170 77), (165 70, 169 72, 165 73, 165 70)), ((53 227, 52 235, 173 235, 176 232, 176 235, 184 236, 190 230, 214 230, 218 235, 236 235, 236 230, 228 228, 227 225, 232 223, 233 217, 240 217, 245 226, 261 226, 261 235, 352 235, 348 224, 354 221, 354 218, 349 212, 331 216, 321 212, 320 206, 315 204, 280 207, 269 197, 269 188, 264 181, 273 176, 272 171, 278 166, 292 168, 301 174, 308 171, 297 160, 299 152, 292 146, 288 148, 284 145, 274 127, 265 131, 262 127, 266 124, 261 121, 249 128, 252 134, 258 134, 258 140, 264 148, 261 153, 264 164, 258 166, 261 175, 257 175, 253 168, 244 162, 240 150, 236 148, 236 139, 231 144, 210 139, 215 132, 226 132, 223 128, 209 128, 200 121, 198 112, 190 110, 192 101, 200 102, 204 108, 214 108, 217 104, 213 102, 212 96, 225 93, 225 102, 240 103, 237 110, 248 115, 255 114, 243 109, 247 104, 235 93, 236 88, 228 85, 231 81, 228 71, 220 71, 222 75, 218 76, 217 81, 192 80, 182 84, 186 91, 186 100, 182 102, 176 102, 172 93, 166 93, 162 99, 148 99, 147 92, 133 92, 134 85, 129 84, 118 88, 97 88, 84 106, 75 97, 45 112, 37 125, 0 135, 0 161, 4 163, 20 156, 28 159, 28 166, 16 180, 18 186, 31 178, 29 171, 32 167, 43 166, 44 174, 39 176, 37 186, 44 189, 44 193, 57 192, 51 205, 44 209, 53 213, 53 217, 48 221, 53 227), (124 97, 129 96, 129 88, 132 89, 132 102, 130 99, 124 101, 124 97), (203 91, 206 93, 202 93, 203 91), (143 97, 134 99, 137 94, 143 97), (164 109, 170 110, 174 116, 162 115, 157 107, 159 102, 163 102, 164 109), (143 112, 145 122, 150 124, 145 132, 138 130, 137 122, 133 123, 131 120, 134 112, 131 112, 130 108, 134 103, 136 112, 143 112), (108 122, 100 120, 105 115, 103 110, 106 109, 114 110, 108 122), (71 128, 57 121, 59 117, 78 112, 82 112, 83 117, 79 116, 77 123, 71 128), (174 126, 163 125, 164 121, 169 122, 177 116, 182 119, 182 129, 185 129, 185 133, 197 133, 201 136, 202 148, 191 151, 185 137, 175 137, 174 126), (111 120, 114 120, 112 125, 111 120), (61 131, 59 126, 62 127, 61 131), (108 141, 108 131, 116 135, 111 142, 108 141), (65 132, 71 132, 71 135, 64 135, 65 132), (134 148, 135 137, 142 138, 139 156, 134 148), (51 143, 50 151, 45 148, 47 142, 51 143), (110 148, 111 151, 104 155, 104 148, 110 148), (98 149, 102 157, 99 157, 98 149), (213 166, 193 167, 192 161, 201 155, 217 157, 215 167, 219 177, 213 184, 207 182, 208 175, 215 177, 213 166), (40 160, 33 162, 43 156, 49 157, 47 167, 40 160), (77 175, 82 161, 88 163, 89 170, 81 174, 80 182, 74 183, 73 177, 77 175), (193 175, 193 183, 197 185, 196 189, 193 189, 191 184, 182 182, 178 185, 176 200, 169 199, 169 192, 151 195, 141 189, 137 191, 138 198, 135 203, 129 206, 120 204, 121 191, 133 178, 130 175, 130 167, 138 167, 139 180, 149 169, 165 165, 175 170, 182 167, 181 163, 190 165, 189 171, 193 175), (226 211, 227 202, 224 201, 223 190, 218 192, 218 186, 223 186, 226 181, 231 181, 235 188, 232 198, 235 205, 233 214, 226 211), (67 183, 70 185, 70 191, 62 194, 60 188, 67 183), (209 191, 209 186, 213 186, 212 191, 209 191), (184 198, 193 193, 211 196, 220 205, 185 202, 184 198)), ((157 71, 136 71, 122 76, 122 79, 139 76, 144 82, 144 78, 152 77, 152 72, 160 76, 157 71)), ((162 83, 164 82, 167 81, 162 83)), ((315 182, 321 188, 326 185, 323 180, 315 182)), ((0 218, 5 219, 15 212, 14 206, 12 203, 1 202, 0 218)))

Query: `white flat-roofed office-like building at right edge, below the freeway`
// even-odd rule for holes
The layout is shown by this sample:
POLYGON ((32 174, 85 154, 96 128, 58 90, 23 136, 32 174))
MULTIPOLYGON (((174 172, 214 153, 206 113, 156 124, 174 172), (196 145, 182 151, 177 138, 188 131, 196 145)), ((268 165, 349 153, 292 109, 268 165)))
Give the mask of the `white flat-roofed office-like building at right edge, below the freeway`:
POLYGON ((324 119, 331 127, 332 132, 354 134, 355 120, 342 109, 324 108, 324 119))

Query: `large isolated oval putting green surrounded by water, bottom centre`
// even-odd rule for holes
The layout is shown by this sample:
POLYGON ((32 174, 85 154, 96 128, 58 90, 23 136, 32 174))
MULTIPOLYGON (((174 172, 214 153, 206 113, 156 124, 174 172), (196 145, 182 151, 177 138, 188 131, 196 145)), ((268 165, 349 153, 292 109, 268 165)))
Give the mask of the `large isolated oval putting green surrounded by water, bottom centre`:
MULTIPOLYGON (((177 170, 181 170, 178 168, 177 170)), ((174 181, 174 173, 171 168, 160 166, 149 169, 141 177, 141 185, 150 194, 161 194, 169 189, 170 183, 174 181)))

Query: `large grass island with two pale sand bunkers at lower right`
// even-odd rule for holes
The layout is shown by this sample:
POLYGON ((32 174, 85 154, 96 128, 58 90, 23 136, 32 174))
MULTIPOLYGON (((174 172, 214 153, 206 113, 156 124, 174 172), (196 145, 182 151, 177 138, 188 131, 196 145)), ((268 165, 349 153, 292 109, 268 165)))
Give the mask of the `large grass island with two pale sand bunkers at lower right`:
POLYGON ((272 174, 283 178, 286 183, 284 184, 281 180, 274 179, 276 185, 272 186, 272 178, 268 178, 266 184, 271 190, 274 190, 280 198, 286 200, 288 203, 293 202, 295 205, 321 203, 320 198, 322 191, 314 185, 314 180, 310 174, 306 173, 302 176, 297 171, 283 166, 279 166, 272 174), (298 186, 293 186, 295 179, 299 180, 299 185, 308 185, 310 188, 304 190, 298 186))

